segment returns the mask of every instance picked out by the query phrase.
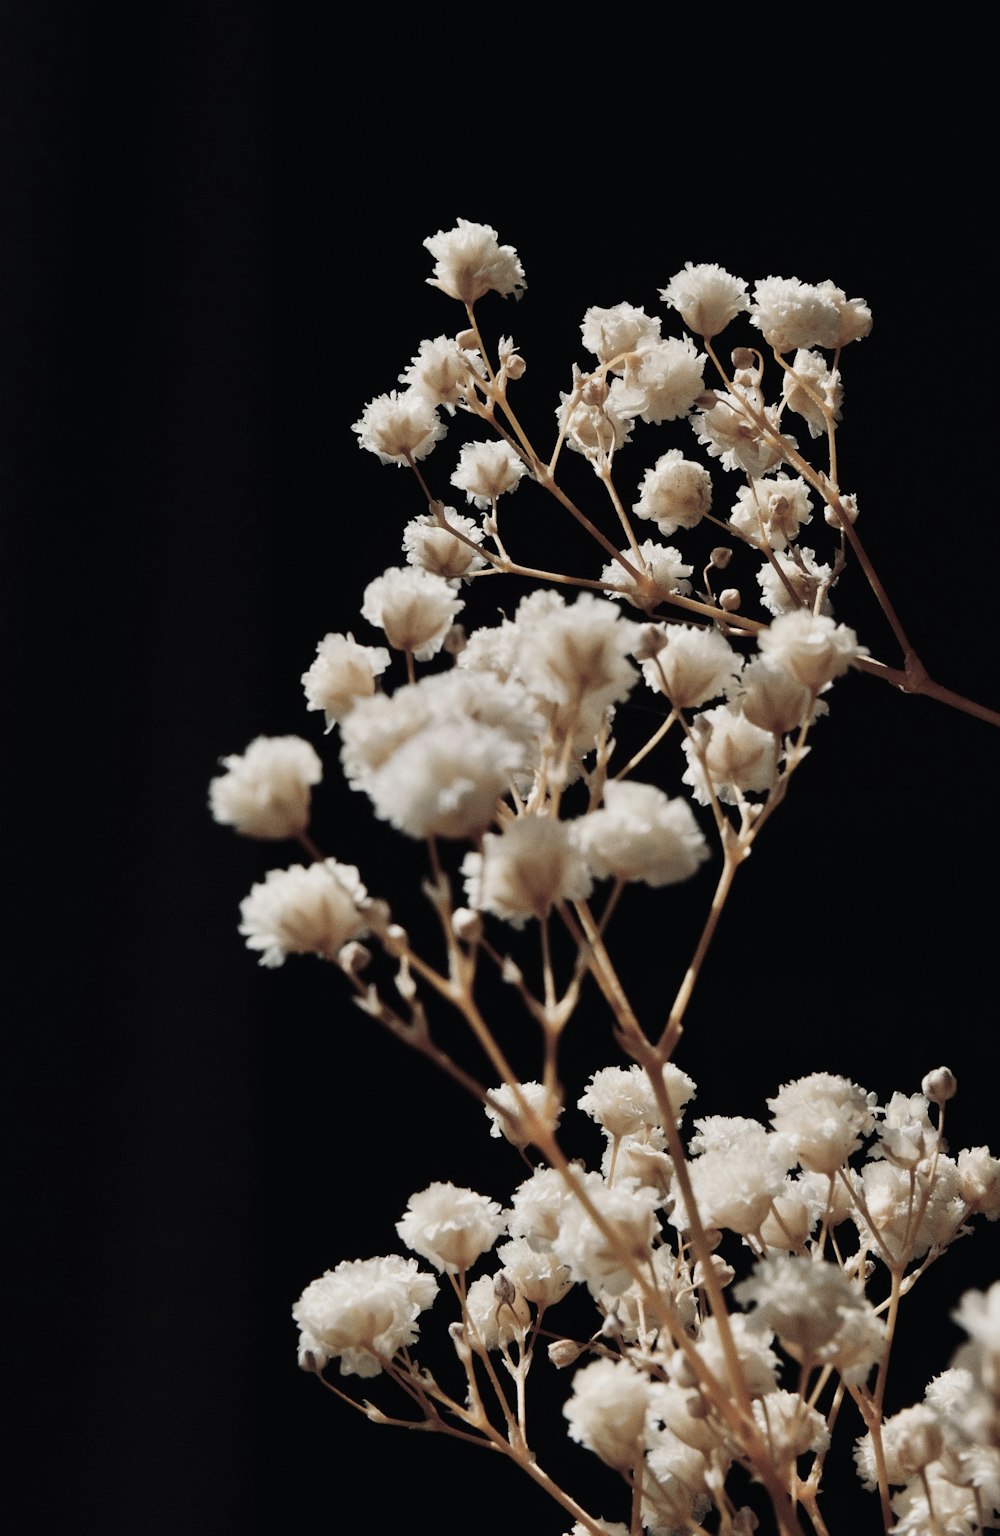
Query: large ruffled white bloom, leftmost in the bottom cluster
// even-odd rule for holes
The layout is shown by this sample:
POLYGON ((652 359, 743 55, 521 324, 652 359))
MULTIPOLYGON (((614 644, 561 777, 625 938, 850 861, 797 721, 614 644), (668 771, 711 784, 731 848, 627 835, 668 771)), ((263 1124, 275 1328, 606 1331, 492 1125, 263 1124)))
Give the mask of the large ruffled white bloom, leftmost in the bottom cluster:
POLYGON ((438 1281, 412 1258, 346 1260, 306 1286, 292 1307, 300 1359, 309 1352, 321 1369, 339 1359, 343 1376, 376 1376, 415 1342, 416 1318, 436 1293, 438 1281))

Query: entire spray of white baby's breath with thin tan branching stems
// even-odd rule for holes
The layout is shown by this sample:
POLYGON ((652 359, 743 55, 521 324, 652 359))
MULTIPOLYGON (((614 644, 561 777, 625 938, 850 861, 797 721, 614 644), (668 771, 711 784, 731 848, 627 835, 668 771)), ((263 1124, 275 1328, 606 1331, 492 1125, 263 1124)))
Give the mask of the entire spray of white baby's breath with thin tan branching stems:
MULTIPOLYGON (((659 318, 630 304, 587 310, 582 343, 596 366, 575 364, 542 453, 512 401, 525 359, 512 338, 492 356, 476 316, 488 293, 524 292, 516 252, 464 220, 425 246, 429 281, 464 306, 464 327, 421 343, 399 375, 404 390, 372 401, 355 424, 361 447, 410 468, 418 490, 407 564, 376 576, 361 608, 387 648, 327 634, 303 685, 307 707, 338 733, 349 783, 376 817, 425 843, 441 957, 369 895, 358 869, 313 846, 320 759, 306 742, 264 739, 226 759, 210 800, 218 820, 296 840, 313 860, 270 871, 244 902, 243 932, 261 962, 293 952, 335 962, 364 1014, 473 1094, 495 1137, 538 1161, 507 1210, 438 1181, 396 1223, 452 1292, 452 1384, 415 1355, 438 1283, 395 1255, 346 1261, 307 1287, 295 1309, 300 1359, 341 1396, 324 1375, 333 1361, 341 1376, 389 1378, 409 1415, 366 1404, 369 1418, 490 1444, 551 1493, 575 1530, 613 1527, 531 1448, 528 1381, 547 1336, 547 1364, 578 1367, 570 1436, 622 1475, 631 1536, 751 1528, 728 1491, 734 1467, 763 1484, 782 1536, 800 1530, 799 1510, 825 1530, 822 1471, 845 1399, 857 1409, 859 1468, 879 1491, 886 1531, 896 1516, 900 1530, 925 1528, 920 1519, 940 1527, 946 1507, 975 1530, 1000 1504, 995 1441, 971 1428, 997 1413, 995 1376, 980 1356, 963 1398, 966 1448, 948 1439, 931 1393, 912 1421, 919 1432, 900 1419, 886 1435, 883 1413, 903 1296, 972 1218, 1000 1217, 997 1160, 985 1147, 948 1155, 954 1078, 939 1069, 920 1094, 879 1104, 817 1072, 768 1100, 770 1126, 710 1115, 691 1132, 694 1083, 673 1060, 736 872, 811 750, 833 685, 859 670, 1000 723, 929 680, 857 535, 857 499, 839 485, 840 353, 868 333, 871 315, 833 283, 770 276, 751 298, 724 269, 688 263, 661 296, 691 335, 664 336, 659 318), (742 313, 771 358, 743 343, 727 369, 713 344, 742 313), (822 464, 799 449, 790 416, 820 444, 822 464), (461 447, 449 479, 465 513, 430 484, 430 456, 456 422, 492 433, 461 447), (630 507, 619 465, 651 429, 680 441, 647 464, 630 507), (590 465, 596 507, 584 510, 556 478, 564 449, 590 465), (594 554, 590 570, 565 573, 512 556, 501 504, 539 490, 598 545, 601 564, 594 554), (680 547, 639 542, 644 522, 680 547), (800 542, 814 527, 829 545, 820 554, 800 542), (710 547, 688 551, 705 535, 710 547), (739 587, 719 588, 734 558, 753 562, 759 611, 739 587), (853 559, 886 613, 902 668, 873 659, 833 614, 853 559), (467 633, 458 614, 467 617, 487 576, 527 578, 536 590, 513 614, 467 633), (579 588, 575 601, 567 588, 579 588), (661 717, 621 748, 616 716, 641 688, 661 717), (674 770, 664 746, 671 734, 674 770), (641 1018, 614 960, 622 892, 691 880, 711 857, 705 828, 720 852, 714 897, 667 1017, 641 1018), (559 1069, 587 978, 631 1058, 594 1071, 576 1106, 604 1130, 599 1167, 567 1150, 559 1069), (493 1021, 498 983, 538 1026, 536 1080, 515 1071, 493 1021), (441 1044, 441 1005, 465 1025, 479 1066, 441 1044), (501 1238, 501 1267, 473 1278, 501 1238), (573 1290, 596 1309, 585 1336, 548 1324, 573 1290)), ((975 1306, 966 1303, 969 1318, 975 1306)))

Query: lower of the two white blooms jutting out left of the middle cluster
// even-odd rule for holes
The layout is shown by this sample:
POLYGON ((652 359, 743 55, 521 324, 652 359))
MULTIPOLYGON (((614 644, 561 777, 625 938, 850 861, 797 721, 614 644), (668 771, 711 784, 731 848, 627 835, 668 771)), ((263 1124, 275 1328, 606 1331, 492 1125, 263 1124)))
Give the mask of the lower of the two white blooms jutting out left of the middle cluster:
POLYGON ((240 932, 247 949, 261 951, 261 965, 283 965, 290 954, 335 960, 366 928, 358 909, 367 891, 353 865, 323 863, 269 869, 263 885, 240 903, 240 932))

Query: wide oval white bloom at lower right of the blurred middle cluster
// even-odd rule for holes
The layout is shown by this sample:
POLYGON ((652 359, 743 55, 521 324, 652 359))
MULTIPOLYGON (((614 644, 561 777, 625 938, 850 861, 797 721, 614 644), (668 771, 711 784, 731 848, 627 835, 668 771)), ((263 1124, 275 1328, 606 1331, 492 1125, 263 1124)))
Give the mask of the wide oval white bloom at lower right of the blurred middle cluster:
POLYGON ((604 806, 581 822, 581 848, 598 880, 676 885, 708 859, 705 836, 687 800, 668 800, 651 783, 610 782, 604 806))

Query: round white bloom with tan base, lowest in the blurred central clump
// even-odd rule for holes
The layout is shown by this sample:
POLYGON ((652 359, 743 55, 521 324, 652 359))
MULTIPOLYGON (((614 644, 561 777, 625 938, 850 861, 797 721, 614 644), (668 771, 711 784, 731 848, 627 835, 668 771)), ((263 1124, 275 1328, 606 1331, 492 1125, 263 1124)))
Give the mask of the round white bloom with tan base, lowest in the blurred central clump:
POLYGON ((568 822, 519 816, 502 833, 487 833, 482 852, 462 862, 469 905, 515 928, 542 919, 556 902, 582 902, 591 880, 568 822))

